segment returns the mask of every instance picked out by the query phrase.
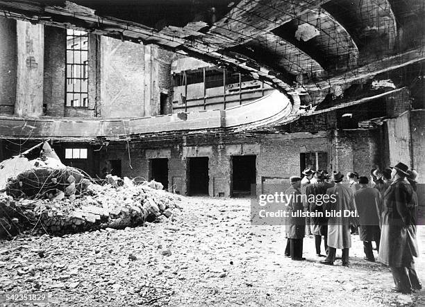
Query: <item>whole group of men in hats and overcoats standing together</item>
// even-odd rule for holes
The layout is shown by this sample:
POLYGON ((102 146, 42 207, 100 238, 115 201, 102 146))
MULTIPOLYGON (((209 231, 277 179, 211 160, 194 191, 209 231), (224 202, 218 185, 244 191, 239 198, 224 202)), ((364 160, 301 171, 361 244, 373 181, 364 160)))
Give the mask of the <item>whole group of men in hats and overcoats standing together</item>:
POLYGON ((372 169, 370 182, 355 172, 347 173, 347 182, 337 171, 330 175, 306 168, 302 175, 290 177, 291 186, 285 191, 287 195, 306 195, 290 198, 287 204, 285 256, 294 261, 306 260, 302 253, 307 228, 315 236, 317 256, 326 257, 320 263, 333 265, 336 249, 342 249, 342 265, 349 266, 351 230, 358 227, 365 260, 375 261, 374 241, 378 261, 390 266, 395 283, 392 290, 410 293, 422 288, 413 260, 419 254, 415 170, 403 163, 383 171, 372 169), (326 201, 324 195, 328 195, 326 201), (292 214, 296 211, 299 213, 292 214), (310 213, 307 218, 300 214, 302 211, 310 213), (326 256, 321 252, 322 238, 326 256))

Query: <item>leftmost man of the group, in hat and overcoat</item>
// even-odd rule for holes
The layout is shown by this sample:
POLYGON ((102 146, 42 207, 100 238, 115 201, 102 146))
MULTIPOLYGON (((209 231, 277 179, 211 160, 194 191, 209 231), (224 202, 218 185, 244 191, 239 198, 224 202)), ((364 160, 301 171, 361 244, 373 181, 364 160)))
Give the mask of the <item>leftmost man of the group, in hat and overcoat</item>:
POLYGON ((306 218, 303 218, 303 203, 301 201, 301 177, 290 177, 291 186, 285 195, 292 195, 288 202, 288 218, 286 218, 286 236, 290 239, 290 255, 292 260, 303 261, 303 238, 306 234, 306 218))

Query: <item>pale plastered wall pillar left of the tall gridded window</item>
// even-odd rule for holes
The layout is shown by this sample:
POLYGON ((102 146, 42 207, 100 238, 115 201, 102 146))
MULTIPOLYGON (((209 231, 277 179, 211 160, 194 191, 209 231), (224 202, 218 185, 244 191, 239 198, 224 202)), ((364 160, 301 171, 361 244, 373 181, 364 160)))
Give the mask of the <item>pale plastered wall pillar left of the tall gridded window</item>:
POLYGON ((17 21, 17 85, 15 114, 43 114, 44 28, 17 21))

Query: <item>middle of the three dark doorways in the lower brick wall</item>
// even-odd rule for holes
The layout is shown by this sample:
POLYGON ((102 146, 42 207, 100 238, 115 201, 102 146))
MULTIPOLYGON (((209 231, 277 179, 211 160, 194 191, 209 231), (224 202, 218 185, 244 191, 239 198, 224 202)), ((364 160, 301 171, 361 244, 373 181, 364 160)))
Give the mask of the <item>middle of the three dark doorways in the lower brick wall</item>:
POLYGON ((189 195, 208 195, 208 157, 189 158, 189 195))

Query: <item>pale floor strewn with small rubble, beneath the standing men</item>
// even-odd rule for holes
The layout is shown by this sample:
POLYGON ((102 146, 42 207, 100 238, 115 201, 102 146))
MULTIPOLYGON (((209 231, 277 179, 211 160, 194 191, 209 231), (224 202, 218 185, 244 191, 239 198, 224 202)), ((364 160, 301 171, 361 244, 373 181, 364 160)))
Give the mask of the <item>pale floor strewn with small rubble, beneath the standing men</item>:
MULTIPOLYGON (((390 271, 363 260, 358 236, 351 267, 320 265, 310 237, 307 261, 291 261, 283 227, 250 225, 248 199, 183 198, 181 206, 176 220, 147 227, 0 241, 0 292, 46 291, 49 306, 425 304, 425 290, 390 291, 390 271)), ((419 227, 419 248, 424 233, 419 227)), ((424 276, 424 258, 417 272, 424 276)))

